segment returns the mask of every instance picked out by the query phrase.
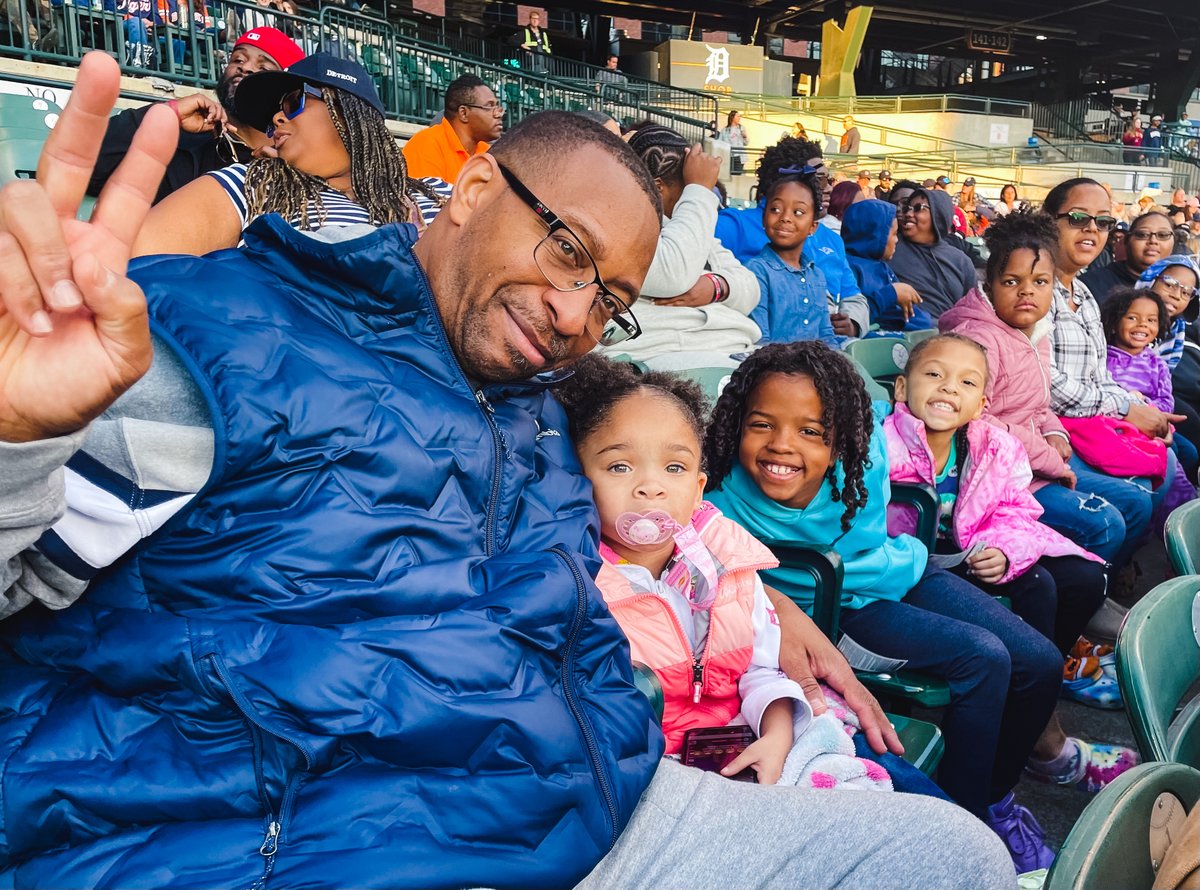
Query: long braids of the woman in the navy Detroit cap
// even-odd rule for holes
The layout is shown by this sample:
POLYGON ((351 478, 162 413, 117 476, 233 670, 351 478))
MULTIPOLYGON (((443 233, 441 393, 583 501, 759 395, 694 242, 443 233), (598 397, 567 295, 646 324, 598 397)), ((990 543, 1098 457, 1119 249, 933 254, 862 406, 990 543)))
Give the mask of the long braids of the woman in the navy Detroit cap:
MULTIPOLYGON (((408 179, 408 166, 400 145, 388 132, 384 118, 358 96, 328 86, 320 89, 334 128, 350 157, 350 188, 354 200, 371 218, 372 225, 407 222, 413 214, 413 193, 444 203, 428 185, 408 179)), ((246 168, 247 216, 280 214, 311 228, 310 203, 317 211, 317 225, 326 220, 320 194, 329 184, 304 173, 278 157, 251 161, 246 168)))

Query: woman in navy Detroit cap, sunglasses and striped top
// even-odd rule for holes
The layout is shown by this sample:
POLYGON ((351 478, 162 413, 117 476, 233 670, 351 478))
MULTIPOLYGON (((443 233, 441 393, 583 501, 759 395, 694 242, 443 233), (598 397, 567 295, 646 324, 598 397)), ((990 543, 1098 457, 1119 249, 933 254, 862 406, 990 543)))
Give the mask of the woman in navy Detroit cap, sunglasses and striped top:
POLYGON ((420 225, 449 193, 445 184, 439 193, 430 181, 407 178, 371 74, 356 62, 317 53, 287 71, 245 78, 235 102, 238 119, 266 133, 276 156, 215 170, 160 203, 134 255, 235 247, 264 214, 304 230, 420 225))

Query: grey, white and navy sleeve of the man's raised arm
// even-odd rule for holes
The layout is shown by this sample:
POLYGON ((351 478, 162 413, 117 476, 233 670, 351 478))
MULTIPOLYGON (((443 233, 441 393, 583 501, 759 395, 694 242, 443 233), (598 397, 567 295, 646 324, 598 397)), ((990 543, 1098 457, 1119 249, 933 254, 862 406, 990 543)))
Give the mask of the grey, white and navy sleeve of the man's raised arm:
POLYGON ((0 618, 74 602, 192 499, 212 456, 199 387, 157 341, 150 372, 86 429, 0 443, 0 618))

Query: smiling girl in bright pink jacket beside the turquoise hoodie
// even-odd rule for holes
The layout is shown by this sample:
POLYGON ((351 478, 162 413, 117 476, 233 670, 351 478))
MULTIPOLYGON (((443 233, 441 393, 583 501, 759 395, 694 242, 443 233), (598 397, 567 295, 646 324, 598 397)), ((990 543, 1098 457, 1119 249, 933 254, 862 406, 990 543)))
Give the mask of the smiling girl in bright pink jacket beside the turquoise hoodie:
MULTIPOLYGON (((931 561, 1009 597, 1013 612, 1066 657, 1104 602, 1104 564, 1038 522, 1042 507, 1030 493, 1025 449, 980 420, 988 375, 986 350, 961 335, 941 333, 913 348, 896 378, 895 410, 883 423, 889 477, 937 491, 941 516, 931 561)), ((900 511, 888 524, 889 534, 914 530, 900 511)), ((1136 762, 1129 748, 1067 738, 1051 720, 1028 769, 1040 778, 1098 790, 1136 762)))

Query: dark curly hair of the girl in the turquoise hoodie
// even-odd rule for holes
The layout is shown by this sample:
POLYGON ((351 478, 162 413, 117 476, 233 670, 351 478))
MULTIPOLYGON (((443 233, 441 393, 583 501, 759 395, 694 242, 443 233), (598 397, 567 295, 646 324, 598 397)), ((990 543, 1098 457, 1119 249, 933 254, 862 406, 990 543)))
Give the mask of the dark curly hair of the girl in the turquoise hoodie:
POLYGON ((853 362, 821 341, 770 343, 755 351, 733 372, 716 401, 704 439, 708 491, 720 488, 732 471, 742 444, 746 403, 755 387, 768 374, 797 374, 812 379, 821 398, 824 443, 832 449, 826 481, 833 500, 845 506, 841 528, 842 531, 848 531, 856 513, 866 505, 865 470, 870 465, 875 414, 866 386, 853 362), (838 487, 836 477, 839 463, 844 477, 841 488, 838 487))

